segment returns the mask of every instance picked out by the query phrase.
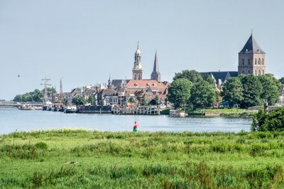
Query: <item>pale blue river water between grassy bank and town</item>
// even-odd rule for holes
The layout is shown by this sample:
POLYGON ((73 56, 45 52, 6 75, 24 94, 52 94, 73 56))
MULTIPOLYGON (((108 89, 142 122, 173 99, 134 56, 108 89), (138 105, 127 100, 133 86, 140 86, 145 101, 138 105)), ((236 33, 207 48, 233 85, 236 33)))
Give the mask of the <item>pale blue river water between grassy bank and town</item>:
POLYGON ((134 121, 141 131, 249 131, 251 119, 224 117, 176 118, 145 115, 64 114, 41 110, 0 108, 0 134, 13 131, 80 128, 98 131, 132 131, 134 121))

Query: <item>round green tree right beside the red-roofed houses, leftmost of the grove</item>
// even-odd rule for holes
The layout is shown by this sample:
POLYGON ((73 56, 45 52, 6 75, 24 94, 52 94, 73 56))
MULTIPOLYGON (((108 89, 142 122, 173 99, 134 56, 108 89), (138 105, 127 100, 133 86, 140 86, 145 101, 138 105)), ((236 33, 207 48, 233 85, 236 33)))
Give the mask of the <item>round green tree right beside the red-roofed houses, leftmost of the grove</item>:
POLYGON ((168 87, 168 100, 176 104, 176 107, 183 107, 190 99, 192 82, 185 78, 174 80, 168 87))

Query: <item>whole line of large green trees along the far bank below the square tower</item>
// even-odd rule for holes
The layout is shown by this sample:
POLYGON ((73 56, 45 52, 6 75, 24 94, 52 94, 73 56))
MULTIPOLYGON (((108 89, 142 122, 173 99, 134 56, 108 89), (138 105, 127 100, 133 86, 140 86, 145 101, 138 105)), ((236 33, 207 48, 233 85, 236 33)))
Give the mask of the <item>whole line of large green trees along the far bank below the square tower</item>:
POLYGON ((227 102, 229 107, 239 104, 252 107, 275 104, 279 100, 280 88, 284 86, 284 77, 277 80, 273 75, 239 75, 230 77, 217 90, 211 75, 201 75, 195 70, 182 70, 175 73, 168 88, 168 100, 175 107, 212 107, 219 102, 227 102))

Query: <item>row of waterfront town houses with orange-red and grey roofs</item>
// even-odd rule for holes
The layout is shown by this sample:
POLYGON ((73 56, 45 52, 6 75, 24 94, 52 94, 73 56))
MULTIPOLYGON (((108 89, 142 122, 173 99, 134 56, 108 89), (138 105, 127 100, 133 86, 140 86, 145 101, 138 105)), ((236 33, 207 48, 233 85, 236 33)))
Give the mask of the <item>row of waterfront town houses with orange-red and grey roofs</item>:
MULTIPOLYGON (((94 85, 78 87, 71 92, 62 93, 62 99, 67 99, 72 103, 75 97, 94 97, 95 102, 92 105, 119 105, 126 107, 129 102, 141 104, 142 99, 151 102, 158 99, 162 106, 168 106, 167 95, 170 82, 158 82, 156 80, 111 80, 108 85, 94 85)), ((53 102, 60 99, 60 94, 53 95, 53 102)))

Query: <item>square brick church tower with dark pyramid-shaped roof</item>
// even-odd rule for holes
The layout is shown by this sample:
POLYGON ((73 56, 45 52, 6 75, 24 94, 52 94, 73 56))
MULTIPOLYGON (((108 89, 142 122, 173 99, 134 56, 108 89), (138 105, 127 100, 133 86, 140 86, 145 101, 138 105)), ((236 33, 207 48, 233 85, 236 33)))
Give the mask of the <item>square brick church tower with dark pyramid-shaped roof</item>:
POLYGON ((253 38, 253 33, 251 33, 249 40, 246 41, 244 48, 239 52, 238 72, 239 75, 266 74, 266 53, 264 53, 258 43, 256 43, 256 39, 253 38))

